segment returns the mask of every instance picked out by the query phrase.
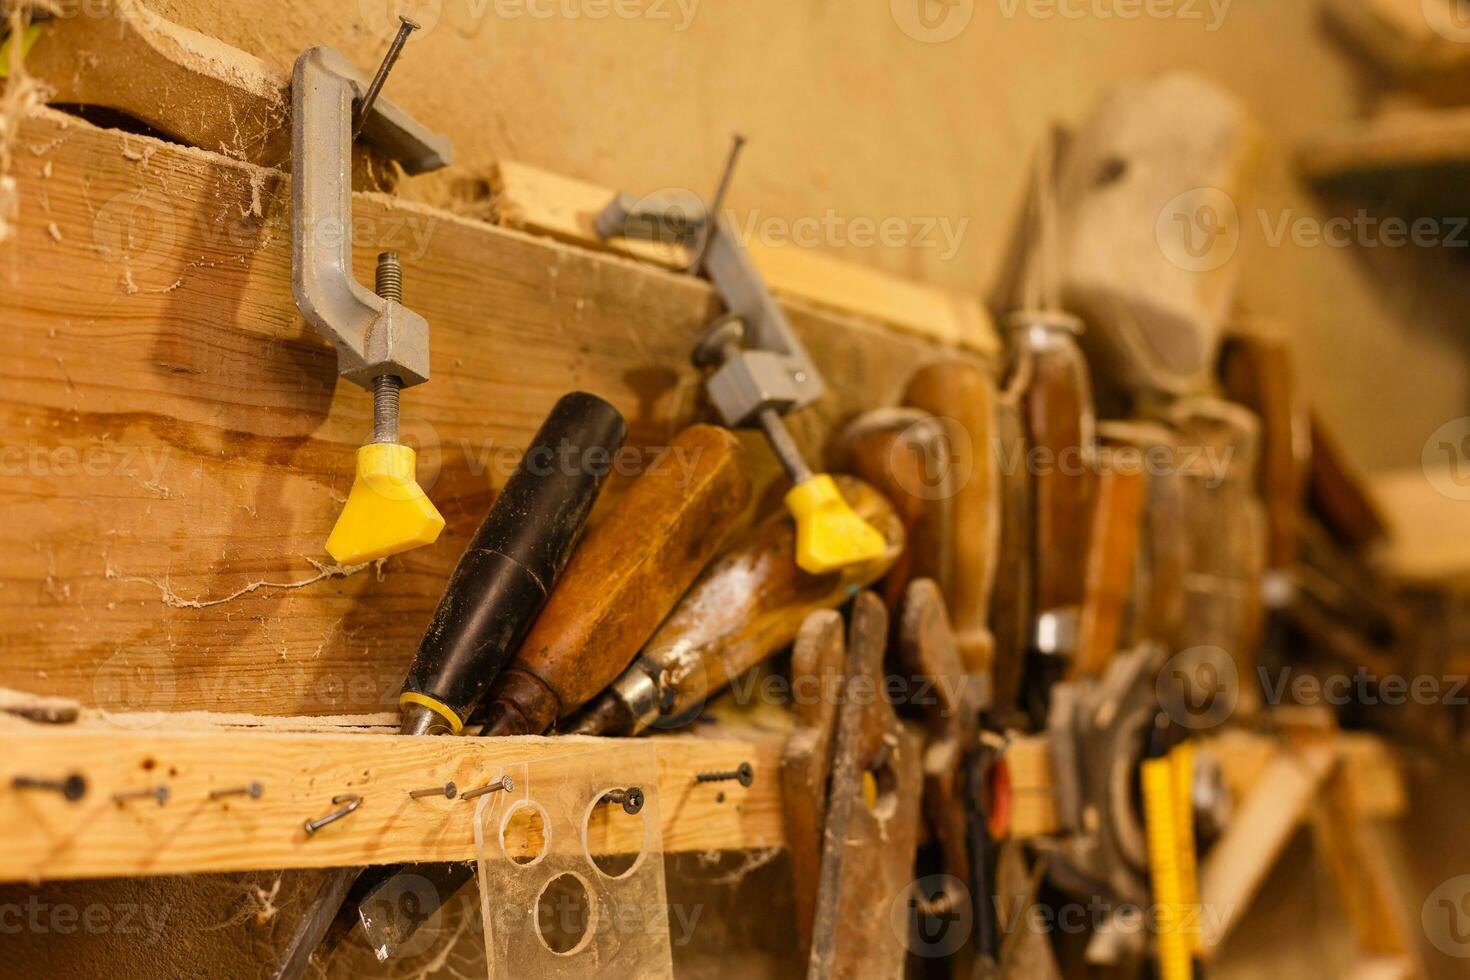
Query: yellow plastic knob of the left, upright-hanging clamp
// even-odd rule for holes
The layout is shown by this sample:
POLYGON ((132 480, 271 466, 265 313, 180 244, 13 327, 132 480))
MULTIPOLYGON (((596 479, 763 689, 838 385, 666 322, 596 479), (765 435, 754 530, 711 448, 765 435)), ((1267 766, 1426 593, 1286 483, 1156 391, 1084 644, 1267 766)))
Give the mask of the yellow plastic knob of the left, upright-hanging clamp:
POLYGON ((357 478, 326 539, 332 558, 362 564, 438 541, 444 519, 413 478, 415 461, 406 445, 357 450, 357 478))

